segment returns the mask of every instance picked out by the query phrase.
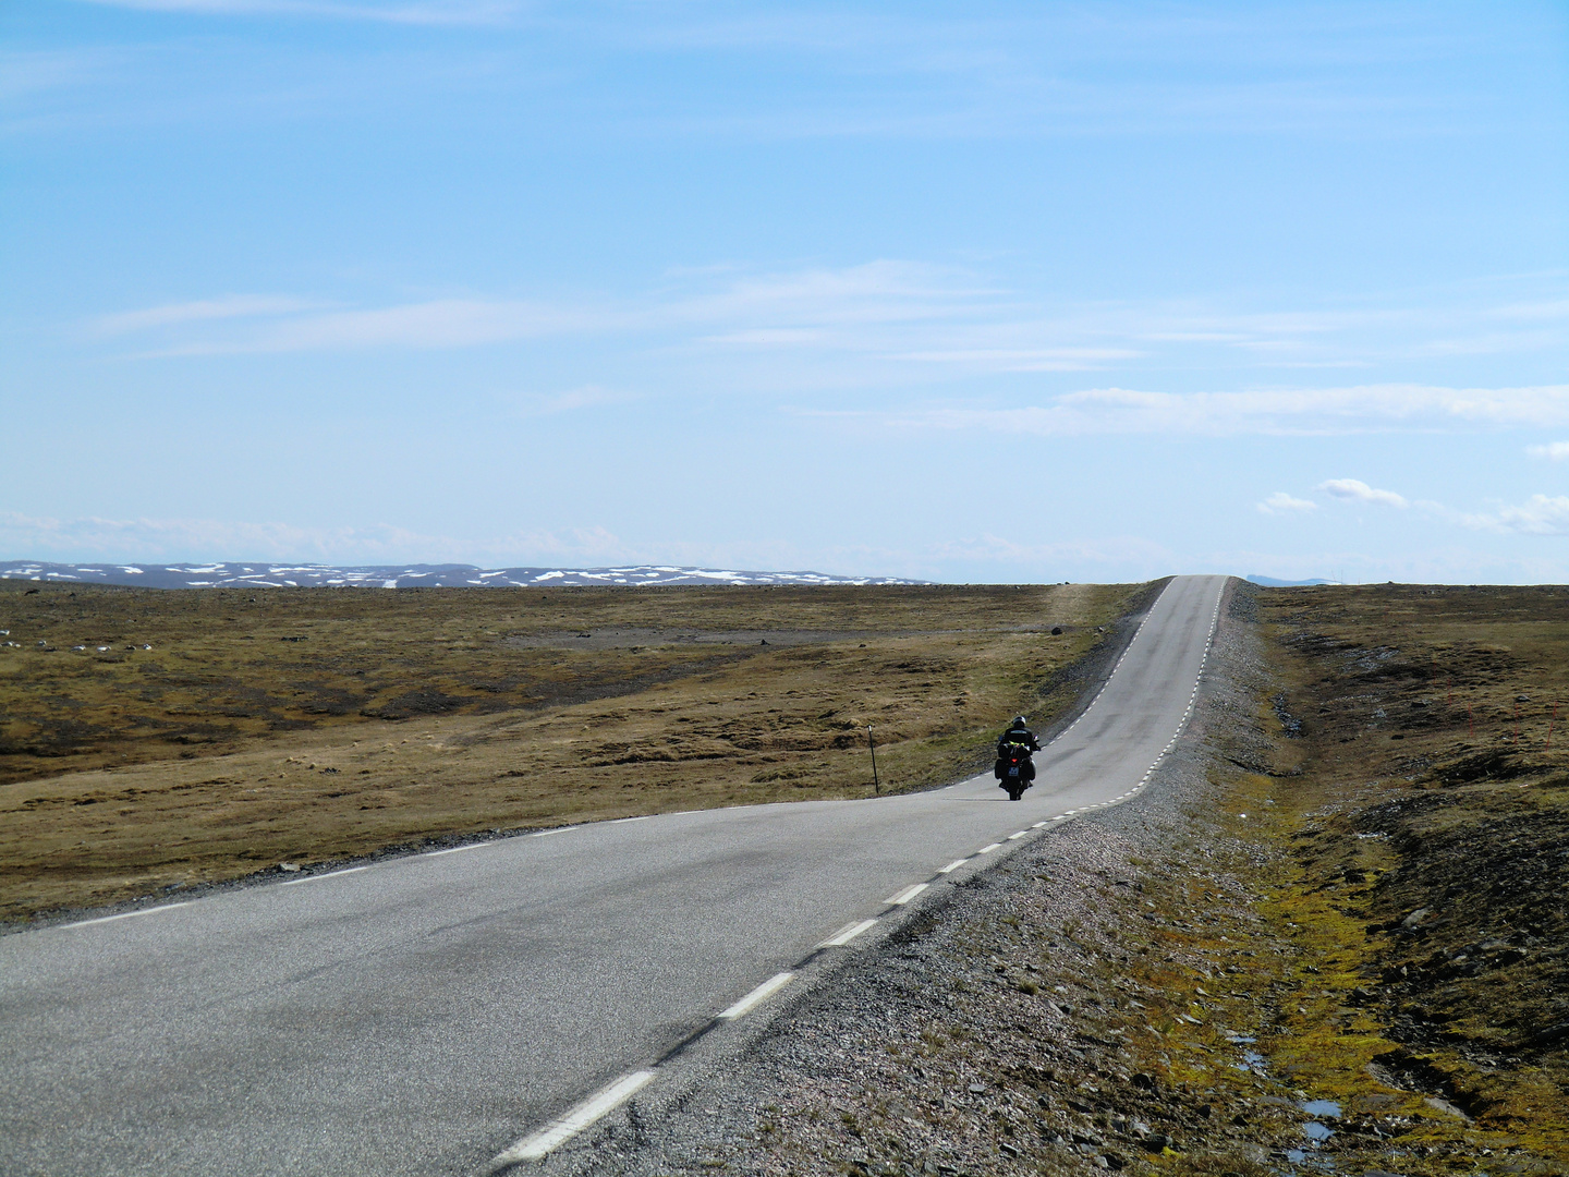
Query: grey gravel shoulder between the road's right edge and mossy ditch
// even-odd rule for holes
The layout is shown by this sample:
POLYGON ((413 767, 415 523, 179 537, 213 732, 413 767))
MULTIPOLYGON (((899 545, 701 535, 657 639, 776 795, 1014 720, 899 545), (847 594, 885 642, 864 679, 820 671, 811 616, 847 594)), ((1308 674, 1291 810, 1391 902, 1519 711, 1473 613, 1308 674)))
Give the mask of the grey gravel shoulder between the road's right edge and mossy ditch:
MULTIPOLYGON (((1236 588, 1232 582, 1218 604, 1218 620, 1236 588)), ((1211 634, 1213 656, 1183 730, 1136 789, 1034 822, 890 896, 890 906, 908 912, 902 923, 865 935, 877 923, 865 921, 824 942, 838 954, 819 953, 797 973, 814 984, 786 990, 795 978, 767 982, 772 1003, 752 997, 737 1003, 752 1014, 750 1034, 664 1059, 657 1084, 628 1091, 615 1116, 562 1138, 538 1171, 626 1177, 1142 1171, 1142 1157, 1175 1142, 1158 1130, 1166 1122, 1170 1131, 1170 1116, 1163 1114, 1170 1106, 1144 1111, 1138 1121, 1131 1113, 1122 1117, 1123 1142, 1073 1111, 1090 1111, 1090 1103, 1078 1102, 1094 1100, 1083 1086, 1089 1092, 1097 1083, 1155 1086, 1147 1075, 1130 1077, 1127 1059, 1119 1062, 1117 1031, 1084 1033, 1086 997, 1097 1009, 1106 1000, 1116 1006, 1117 998, 1087 995, 1079 981, 1092 989, 1117 984, 1120 916, 1101 910, 1101 896, 1109 888, 1133 896, 1130 880, 1142 855, 1170 852, 1186 836, 1189 810, 1213 799, 1211 736, 1247 714, 1260 673, 1250 626, 1236 615, 1246 617, 1247 601, 1230 612, 1211 634), (1026 838, 1032 830, 1045 836, 1026 838), (1109 926, 1105 916, 1112 916, 1109 926), (1048 929, 1042 946, 1050 943, 1054 968, 1020 951, 1026 923, 1048 929), (1051 984, 1059 979, 1053 973, 1067 984, 1051 984), (1079 1094, 1054 1097, 1048 1094, 1054 1084, 1079 1094), (1064 1113, 1061 1130, 1054 1111, 1064 1113), (1086 1124, 1075 1131, 1068 1119, 1086 1124)), ((1152 1091, 1133 1086, 1131 1094, 1152 1091)), ((1252 1164, 1266 1155, 1254 1149, 1225 1171, 1261 1174, 1252 1164)), ((508 1169, 518 1157, 504 1153, 496 1169, 508 1169)))

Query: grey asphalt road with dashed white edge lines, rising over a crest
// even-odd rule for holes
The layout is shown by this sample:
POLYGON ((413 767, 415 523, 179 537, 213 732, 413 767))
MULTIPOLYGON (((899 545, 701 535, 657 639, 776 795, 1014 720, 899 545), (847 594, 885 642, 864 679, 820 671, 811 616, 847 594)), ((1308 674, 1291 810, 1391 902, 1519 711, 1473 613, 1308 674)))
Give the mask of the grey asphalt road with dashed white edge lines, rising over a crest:
POLYGON ((1136 793, 1186 722, 1224 584, 1170 582, 1017 803, 979 777, 664 814, 3 937, 0 1172, 474 1174, 537 1152, 921 898, 886 901, 1136 793))

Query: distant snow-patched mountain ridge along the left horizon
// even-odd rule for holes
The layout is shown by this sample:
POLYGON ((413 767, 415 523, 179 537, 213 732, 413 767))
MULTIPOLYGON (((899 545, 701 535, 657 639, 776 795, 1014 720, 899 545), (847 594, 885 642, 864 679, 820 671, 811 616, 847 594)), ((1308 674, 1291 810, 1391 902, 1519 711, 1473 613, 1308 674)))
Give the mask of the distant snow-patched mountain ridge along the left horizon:
POLYGON ((755 573, 664 563, 615 568, 477 568, 471 563, 331 565, 267 560, 224 563, 47 563, 0 562, 0 579, 52 584, 119 584, 137 588, 537 588, 548 585, 667 584, 929 584, 897 576, 755 573))

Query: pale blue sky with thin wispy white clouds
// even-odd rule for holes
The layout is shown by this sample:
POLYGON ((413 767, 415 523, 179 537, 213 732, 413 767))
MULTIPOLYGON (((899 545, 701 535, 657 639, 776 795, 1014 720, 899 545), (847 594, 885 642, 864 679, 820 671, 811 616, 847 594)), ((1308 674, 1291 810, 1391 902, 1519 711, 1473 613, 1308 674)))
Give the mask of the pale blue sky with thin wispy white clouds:
POLYGON ((0 557, 1569 581, 1561 3, 0 5, 0 557))

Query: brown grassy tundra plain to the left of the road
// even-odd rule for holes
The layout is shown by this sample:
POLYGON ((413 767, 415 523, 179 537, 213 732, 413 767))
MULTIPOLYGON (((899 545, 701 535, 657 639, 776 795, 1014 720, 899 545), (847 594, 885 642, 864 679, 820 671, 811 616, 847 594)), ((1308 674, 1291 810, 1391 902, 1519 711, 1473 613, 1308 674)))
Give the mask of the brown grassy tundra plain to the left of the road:
POLYGON ((865 796, 868 725, 885 786, 935 785, 1015 711, 1067 706, 1053 675, 1139 587, 25 590, 0 584, 9 920, 486 830, 865 796))

